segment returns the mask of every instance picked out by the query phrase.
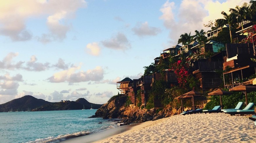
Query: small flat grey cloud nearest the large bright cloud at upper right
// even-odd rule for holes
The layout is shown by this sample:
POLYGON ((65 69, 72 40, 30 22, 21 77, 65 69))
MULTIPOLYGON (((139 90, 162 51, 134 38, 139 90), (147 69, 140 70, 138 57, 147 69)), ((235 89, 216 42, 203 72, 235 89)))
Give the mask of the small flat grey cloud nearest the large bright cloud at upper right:
POLYGON ((132 31, 134 32, 135 35, 139 37, 144 37, 155 36, 161 32, 161 29, 157 27, 149 27, 148 22, 144 22, 140 25, 137 24, 136 27, 132 28, 132 31))

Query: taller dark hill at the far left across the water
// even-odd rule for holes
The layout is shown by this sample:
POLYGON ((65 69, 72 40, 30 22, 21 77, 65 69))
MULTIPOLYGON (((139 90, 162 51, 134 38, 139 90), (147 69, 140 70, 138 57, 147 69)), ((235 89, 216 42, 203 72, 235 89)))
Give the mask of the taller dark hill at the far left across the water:
POLYGON ((26 95, 21 98, 13 99, 7 103, 3 103, 0 105, 0 112, 8 112, 12 111, 26 111, 27 108, 31 110, 40 107, 45 104, 50 104, 51 102, 45 101, 43 99, 37 99, 31 95, 26 95))

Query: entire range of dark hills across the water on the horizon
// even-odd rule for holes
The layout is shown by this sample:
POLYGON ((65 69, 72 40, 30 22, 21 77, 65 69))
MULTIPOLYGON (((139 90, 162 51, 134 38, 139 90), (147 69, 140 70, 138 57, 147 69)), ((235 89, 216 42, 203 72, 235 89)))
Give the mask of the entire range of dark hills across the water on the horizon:
POLYGON ((48 102, 43 99, 37 99, 31 95, 26 95, 21 98, 14 99, 4 104, 0 104, 0 112, 12 111, 26 111, 30 108, 31 111, 54 111, 54 110, 80 110, 90 109, 91 106, 93 109, 98 109, 102 104, 94 104, 88 102, 84 98, 79 98, 76 101, 70 102, 48 102))

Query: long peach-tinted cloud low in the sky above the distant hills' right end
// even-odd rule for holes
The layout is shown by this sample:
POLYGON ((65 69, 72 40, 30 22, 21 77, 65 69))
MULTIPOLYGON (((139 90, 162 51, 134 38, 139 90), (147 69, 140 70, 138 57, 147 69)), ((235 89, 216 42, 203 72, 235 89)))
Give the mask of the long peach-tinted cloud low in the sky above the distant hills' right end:
POLYGON ((70 83, 78 83, 78 82, 86 82, 86 81, 99 81, 103 79, 104 71, 101 67, 97 66, 93 70, 87 71, 78 71, 81 67, 72 67, 68 70, 60 71, 54 73, 53 76, 49 77, 49 82, 70 82, 70 83))

